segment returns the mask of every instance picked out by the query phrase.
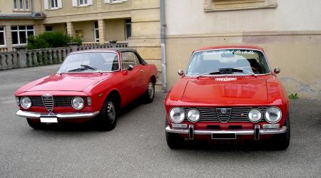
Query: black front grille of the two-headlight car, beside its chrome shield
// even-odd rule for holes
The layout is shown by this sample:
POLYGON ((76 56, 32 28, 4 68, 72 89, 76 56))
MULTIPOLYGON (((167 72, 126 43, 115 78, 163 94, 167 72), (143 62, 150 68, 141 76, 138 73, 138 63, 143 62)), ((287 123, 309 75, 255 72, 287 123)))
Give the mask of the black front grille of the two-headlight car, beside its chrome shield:
MULTIPOLYGON (((37 107, 45 107, 43 99, 41 96, 31 96, 29 97, 31 99, 31 103, 33 106, 37 107)), ((53 103, 54 107, 71 107, 71 100, 72 96, 54 96, 53 98, 53 103)), ((46 103, 48 101, 46 100, 46 103)))

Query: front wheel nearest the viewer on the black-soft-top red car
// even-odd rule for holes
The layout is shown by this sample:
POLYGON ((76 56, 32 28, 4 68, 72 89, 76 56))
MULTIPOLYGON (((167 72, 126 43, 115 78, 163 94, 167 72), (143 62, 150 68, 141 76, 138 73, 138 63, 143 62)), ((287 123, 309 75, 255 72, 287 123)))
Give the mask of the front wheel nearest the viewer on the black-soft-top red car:
POLYGON ((113 130, 116 127, 117 117, 118 106, 113 98, 107 98, 98 115, 98 129, 102 131, 113 130))

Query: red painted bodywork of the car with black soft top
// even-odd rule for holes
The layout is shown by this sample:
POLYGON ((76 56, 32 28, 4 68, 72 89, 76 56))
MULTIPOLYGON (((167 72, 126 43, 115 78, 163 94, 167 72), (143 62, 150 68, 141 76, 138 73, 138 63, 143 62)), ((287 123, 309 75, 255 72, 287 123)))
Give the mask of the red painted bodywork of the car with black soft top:
MULTIPOLYGON (((121 51, 118 51, 117 49, 78 51, 76 53, 86 52, 114 52, 118 54, 120 62, 122 61, 121 51)), ((90 106, 85 103, 85 106, 81 110, 75 110, 72 107, 55 107, 54 113, 94 112, 101 110, 104 101, 112 91, 118 92, 121 96, 120 108, 123 108, 146 92, 148 82, 151 78, 157 80, 157 68, 155 65, 147 63, 135 66, 133 70, 121 68, 121 70, 118 71, 103 73, 57 73, 34 80, 33 82, 22 86, 16 91, 15 96, 21 98, 24 96, 50 94, 54 97, 90 97, 92 100, 90 106)), ((45 107, 31 106, 31 108, 26 110, 19 105, 19 108, 20 110, 30 112, 49 113, 45 107)), ((83 119, 73 119, 72 121, 81 122, 83 119)))

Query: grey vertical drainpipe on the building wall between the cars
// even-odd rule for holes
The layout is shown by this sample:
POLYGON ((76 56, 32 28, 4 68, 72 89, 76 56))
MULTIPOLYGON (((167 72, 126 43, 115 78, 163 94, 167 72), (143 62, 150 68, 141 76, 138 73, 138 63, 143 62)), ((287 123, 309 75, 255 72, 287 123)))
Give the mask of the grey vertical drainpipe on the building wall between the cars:
POLYGON ((166 51, 165 51, 165 38, 166 38, 166 23, 165 23, 165 0, 160 2, 160 11, 161 11, 161 59, 162 59, 162 75, 163 83, 162 89, 163 92, 167 91, 167 78, 166 78, 166 51))

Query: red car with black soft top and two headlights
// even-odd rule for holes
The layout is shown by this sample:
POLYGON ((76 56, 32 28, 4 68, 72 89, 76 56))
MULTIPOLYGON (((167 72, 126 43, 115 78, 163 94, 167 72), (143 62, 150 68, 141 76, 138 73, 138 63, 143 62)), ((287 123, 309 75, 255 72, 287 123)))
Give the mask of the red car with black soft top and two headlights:
POLYGON ((58 73, 16 91, 16 115, 35 129, 95 117, 101 130, 112 130, 120 108, 141 96, 146 103, 153 101, 157 78, 156 66, 133 49, 70 53, 58 73))

